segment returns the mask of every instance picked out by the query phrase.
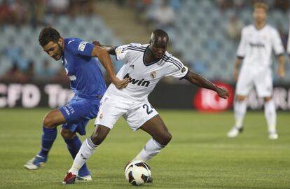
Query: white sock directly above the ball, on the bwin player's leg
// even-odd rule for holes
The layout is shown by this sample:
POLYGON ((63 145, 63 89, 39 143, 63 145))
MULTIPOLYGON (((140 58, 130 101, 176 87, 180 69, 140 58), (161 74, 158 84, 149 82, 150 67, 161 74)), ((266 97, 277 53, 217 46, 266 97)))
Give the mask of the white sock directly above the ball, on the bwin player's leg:
POLYGON ((153 156, 157 155, 160 153, 162 148, 164 148, 162 144, 159 144, 157 141, 154 139, 150 139, 144 148, 141 150, 141 152, 133 159, 133 160, 142 160, 146 161, 152 158, 153 156))

